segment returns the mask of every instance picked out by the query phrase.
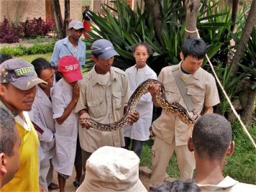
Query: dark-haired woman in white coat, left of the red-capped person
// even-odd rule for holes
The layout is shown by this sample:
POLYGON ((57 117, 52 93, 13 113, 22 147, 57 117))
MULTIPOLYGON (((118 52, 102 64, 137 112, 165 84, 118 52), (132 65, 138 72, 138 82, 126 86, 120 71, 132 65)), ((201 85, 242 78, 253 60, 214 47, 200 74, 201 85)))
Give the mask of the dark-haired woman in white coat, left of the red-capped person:
POLYGON ((51 88, 54 83, 54 70, 51 64, 44 58, 37 58, 31 64, 35 67, 38 77, 47 82, 36 85, 36 97, 29 116, 35 124, 40 147, 40 184, 48 191, 48 186, 58 188, 57 184, 52 183, 51 159, 54 156, 54 120, 52 118, 51 88), (38 128, 39 127, 39 128, 38 128))

